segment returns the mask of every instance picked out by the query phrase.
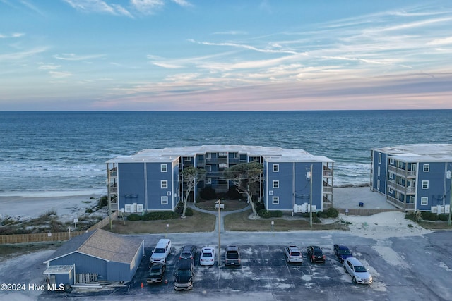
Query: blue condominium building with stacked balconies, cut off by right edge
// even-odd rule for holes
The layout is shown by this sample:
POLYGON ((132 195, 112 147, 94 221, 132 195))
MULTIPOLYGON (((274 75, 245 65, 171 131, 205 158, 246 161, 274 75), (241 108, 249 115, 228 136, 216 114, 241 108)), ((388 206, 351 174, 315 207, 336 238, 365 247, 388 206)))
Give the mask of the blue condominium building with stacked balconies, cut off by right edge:
POLYGON ((451 171, 452 145, 371 149, 371 189, 402 209, 448 213, 451 171))

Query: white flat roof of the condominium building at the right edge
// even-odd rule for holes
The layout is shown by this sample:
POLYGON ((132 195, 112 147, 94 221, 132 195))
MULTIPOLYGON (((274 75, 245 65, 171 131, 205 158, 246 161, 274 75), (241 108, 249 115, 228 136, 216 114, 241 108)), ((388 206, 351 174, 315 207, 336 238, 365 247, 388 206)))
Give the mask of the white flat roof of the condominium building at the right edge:
POLYGON ((410 162, 449 162, 452 161, 450 144, 412 144, 372 149, 389 154, 391 158, 410 162))

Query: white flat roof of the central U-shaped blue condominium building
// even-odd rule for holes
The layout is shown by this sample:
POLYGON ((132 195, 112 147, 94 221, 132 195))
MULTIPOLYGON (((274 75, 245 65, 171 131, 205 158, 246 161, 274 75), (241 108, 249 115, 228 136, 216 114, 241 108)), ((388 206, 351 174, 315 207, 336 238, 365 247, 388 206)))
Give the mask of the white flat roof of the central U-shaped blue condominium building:
POLYGON ((281 147, 262 147, 256 145, 200 145, 189 147, 168 147, 162 149, 143 149, 131 156, 117 156, 107 163, 124 162, 160 162, 174 161, 180 156, 194 157, 197 154, 216 152, 237 152, 248 156, 263 156, 267 161, 316 161, 334 162, 326 156, 314 156, 304 149, 283 149, 281 147))

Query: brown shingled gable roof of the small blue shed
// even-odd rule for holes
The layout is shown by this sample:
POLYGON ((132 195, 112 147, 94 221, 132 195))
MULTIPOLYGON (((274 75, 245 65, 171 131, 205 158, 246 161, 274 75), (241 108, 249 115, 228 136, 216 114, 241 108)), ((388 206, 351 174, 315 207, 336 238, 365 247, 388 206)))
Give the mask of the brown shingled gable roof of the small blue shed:
POLYGON ((72 238, 62 245, 44 263, 78 252, 110 262, 132 262, 138 248, 143 244, 139 238, 130 238, 97 229, 72 238))

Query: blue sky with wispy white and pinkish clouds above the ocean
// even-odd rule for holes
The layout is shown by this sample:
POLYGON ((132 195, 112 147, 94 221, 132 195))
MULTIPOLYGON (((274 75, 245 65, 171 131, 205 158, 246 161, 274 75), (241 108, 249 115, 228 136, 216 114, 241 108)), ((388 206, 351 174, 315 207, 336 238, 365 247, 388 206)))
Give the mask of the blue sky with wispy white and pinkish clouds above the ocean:
POLYGON ((452 1, 0 0, 1 111, 452 109, 452 1))

